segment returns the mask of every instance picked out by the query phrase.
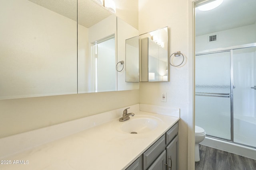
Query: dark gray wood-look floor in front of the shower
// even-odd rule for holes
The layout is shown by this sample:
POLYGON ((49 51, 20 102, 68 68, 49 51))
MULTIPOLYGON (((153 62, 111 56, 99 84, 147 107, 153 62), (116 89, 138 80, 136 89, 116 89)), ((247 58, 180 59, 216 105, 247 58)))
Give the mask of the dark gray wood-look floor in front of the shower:
POLYGON ((256 170, 256 160, 199 145, 200 161, 195 170, 256 170))

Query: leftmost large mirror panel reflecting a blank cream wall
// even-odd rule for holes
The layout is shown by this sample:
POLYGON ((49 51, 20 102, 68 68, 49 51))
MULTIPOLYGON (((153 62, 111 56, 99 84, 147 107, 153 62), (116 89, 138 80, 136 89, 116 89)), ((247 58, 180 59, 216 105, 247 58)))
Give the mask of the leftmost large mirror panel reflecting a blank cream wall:
POLYGON ((77 93, 76 13, 76 1, 0 1, 0 99, 77 93))

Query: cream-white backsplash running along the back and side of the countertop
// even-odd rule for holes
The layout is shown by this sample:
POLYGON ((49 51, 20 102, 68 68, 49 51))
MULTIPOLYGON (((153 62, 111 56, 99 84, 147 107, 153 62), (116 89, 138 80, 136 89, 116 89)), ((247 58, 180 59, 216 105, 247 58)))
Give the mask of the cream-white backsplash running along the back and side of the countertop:
MULTIPOLYGON (((130 107, 130 109, 128 109, 129 113, 136 113, 140 110, 150 112, 151 109, 152 113, 174 117, 179 115, 179 109, 161 106, 135 104, 127 107, 130 107)), ((117 119, 122 116, 122 111, 127 107, 0 138, 0 146, 6 146, 6 143, 8 143, 8 147, 0 147, 0 159, 117 119), (45 136, 47 136, 47 138, 45 136)))

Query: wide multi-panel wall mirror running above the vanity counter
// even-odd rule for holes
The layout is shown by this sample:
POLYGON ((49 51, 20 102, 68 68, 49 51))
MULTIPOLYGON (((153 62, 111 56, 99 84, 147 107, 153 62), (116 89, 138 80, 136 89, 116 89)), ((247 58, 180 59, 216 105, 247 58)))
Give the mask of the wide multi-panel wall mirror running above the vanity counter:
POLYGON ((138 30, 93 0, 1 1, 0 21, 0 99, 138 88, 116 71, 138 30))

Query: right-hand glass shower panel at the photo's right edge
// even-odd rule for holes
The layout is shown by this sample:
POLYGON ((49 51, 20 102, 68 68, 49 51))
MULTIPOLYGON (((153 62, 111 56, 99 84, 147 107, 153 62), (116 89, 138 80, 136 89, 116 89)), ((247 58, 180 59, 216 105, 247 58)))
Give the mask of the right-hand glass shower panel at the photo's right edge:
POLYGON ((256 47, 233 50, 234 142, 256 147, 256 47))

